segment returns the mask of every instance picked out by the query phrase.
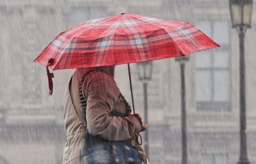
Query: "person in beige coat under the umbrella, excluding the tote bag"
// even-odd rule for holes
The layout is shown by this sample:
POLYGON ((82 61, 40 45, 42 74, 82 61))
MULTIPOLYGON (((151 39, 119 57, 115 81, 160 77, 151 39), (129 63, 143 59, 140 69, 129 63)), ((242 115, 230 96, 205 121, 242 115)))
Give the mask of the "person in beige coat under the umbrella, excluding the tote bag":
POLYGON ((114 66, 76 69, 66 85, 64 97, 67 143, 64 146, 63 164, 79 163, 84 129, 106 140, 122 141, 131 138, 132 146, 138 149, 140 160, 146 163, 146 154, 134 136, 134 133, 146 128, 142 126, 139 114, 131 114, 129 104, 120 93, 114 81, 114 66), (84 74, 87 74, 82 83, 84 97, 87 99, 86 114, 79 98, 79 82, 84 74))

